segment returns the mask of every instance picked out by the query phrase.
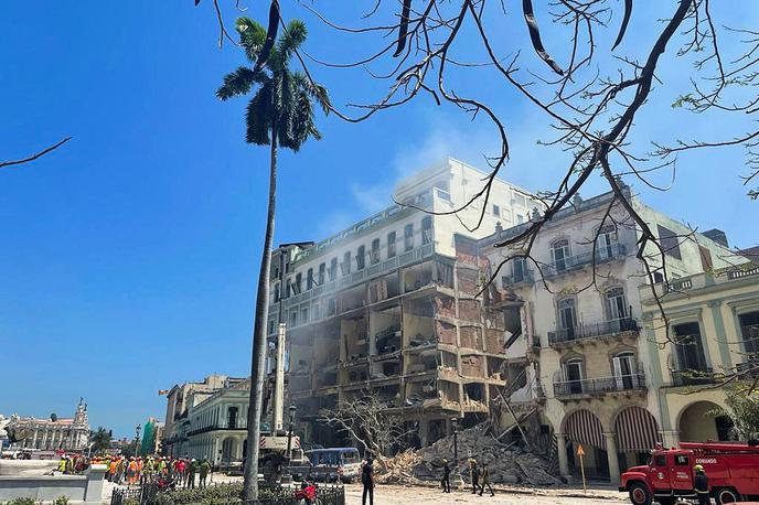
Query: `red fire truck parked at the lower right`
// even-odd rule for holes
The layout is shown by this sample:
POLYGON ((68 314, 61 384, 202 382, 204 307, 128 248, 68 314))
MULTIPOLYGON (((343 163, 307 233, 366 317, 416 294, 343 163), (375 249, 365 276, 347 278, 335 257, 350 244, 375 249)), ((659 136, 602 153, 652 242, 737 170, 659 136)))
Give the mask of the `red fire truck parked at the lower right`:
POLYGON ((627 492, 634 505, 659 502, 672 505, 676 499, 696 499, 693 468, 704 466, 712 497, 717 504, 759 497, 759 442, 691 443, 680 449, 656 444, 651 462, 632 466, 622 474, 619 491, 627 492))

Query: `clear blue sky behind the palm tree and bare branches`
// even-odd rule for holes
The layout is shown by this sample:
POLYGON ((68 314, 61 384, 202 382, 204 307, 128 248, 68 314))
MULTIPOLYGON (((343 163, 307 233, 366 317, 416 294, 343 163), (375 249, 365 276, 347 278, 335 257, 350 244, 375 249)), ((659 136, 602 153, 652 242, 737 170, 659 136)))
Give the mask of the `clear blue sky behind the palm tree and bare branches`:
MULTIPOLYGON (((261 19, 260 2, 248 3, 247 14, 261 19)), ((1 413, 70 416, 84 396, 95 426, 131 436, 148 416, 163 416, 159 389, 214 372, 247 374, 268 151, 243 141, 244 101, 214 97, 242 55, 217 47, 211 2, 191 4, 0 3, 0 159, 74 136, 39 162, 0 173, 1 413)), ((633 18, 632 54, 651 42, 640 20, 665 14, 649 8, 633 18)), ((759 24, 759 7, 741 9, 725 12, 727 21, 759 24)), ((343 42, 290 1, 285 12, 309 23, 307 49, 320 57, 348 61, 376 46, 343 42)), ((234 9, 226 13, 231 24, 234 9)), ((511 19, 493 21, 494 33, 524 39, 519 17, 511 19)), ((462 54, 470 50, 477 57, 464 40, 462 54)), ((531 52, 522 57, 525 68, 544 71, 531 52)), ((662 69, 631 140, 724 133, 714 120, 670 108, 686 89, 682 65, 662 69)), ((314 72, 339 106, 382 92, 361 71, 314 72)), ((549 187, 566 155, 536 146, 547 122, 477 72, 453 83, 505 118, 512 159, 502 176, 549 187)), ((498 148, 487 123, 427 99, 360 125, 319 123, 321 142, 280 158, 278 241, 318 239, 376 211, 398 178, 447 153, 482 166, 482 151, 498 148)), ((747 247, 757 243, 746 218, 757 203, 740 185, 742 166, 740 149, 702 152, 681 158, 672 192, 633 186, 661 211, 720 227, 747 247)), ((600 180, 591 191, 602 191, 600 180)))

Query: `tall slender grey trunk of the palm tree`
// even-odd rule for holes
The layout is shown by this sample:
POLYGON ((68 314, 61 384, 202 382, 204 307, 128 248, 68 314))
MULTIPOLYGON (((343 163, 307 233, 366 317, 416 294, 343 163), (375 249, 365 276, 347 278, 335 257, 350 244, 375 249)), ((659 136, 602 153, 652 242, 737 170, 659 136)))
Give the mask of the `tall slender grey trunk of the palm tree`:
POLYGON ((261 405, 264 400, 264 368, 266 365, 266 321, 269 310, 269 269, 271 267, 271 243, 277 193, 277 128, 271 127, 271 154, 269 166, 269 206, 266 215, 266 235, 261 251, 256 315, 253 329, 253 364, 250 367, 250 398, 248 405, 248 444, 245 454, 245 502, 258 499, 258 440, 260 439, 261 405))

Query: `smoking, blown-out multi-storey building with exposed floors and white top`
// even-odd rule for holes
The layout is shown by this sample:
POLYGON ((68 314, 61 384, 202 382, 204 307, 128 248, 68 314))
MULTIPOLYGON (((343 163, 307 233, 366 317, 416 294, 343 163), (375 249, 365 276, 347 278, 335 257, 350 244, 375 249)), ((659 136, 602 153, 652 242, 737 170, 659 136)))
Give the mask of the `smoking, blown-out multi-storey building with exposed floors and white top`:
POLYGON ((447 434, 451 418, 473 423, 489 411, 505 385, 506 333, 477 298, 480 258, 456 236, 524 223, 539 203, 496 180, 479 236, 462 223, 473 226, 481 207, 425 212, 462 206, 484 176, 448 159, 398 184, 406 205, 275 253, 268 333, 287 325, 288 401, 306 440, 336 443, 318 412, 366 394, 411 423, 420 445, 447 434))

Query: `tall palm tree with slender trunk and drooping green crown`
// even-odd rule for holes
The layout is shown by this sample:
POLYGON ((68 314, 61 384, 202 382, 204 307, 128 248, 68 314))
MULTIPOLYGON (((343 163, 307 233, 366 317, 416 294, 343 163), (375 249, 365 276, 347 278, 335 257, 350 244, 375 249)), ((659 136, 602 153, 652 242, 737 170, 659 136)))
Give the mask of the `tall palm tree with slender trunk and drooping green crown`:
POLYGON ((307 35, 306 24, 293 20, 276 44, 266 44, 267 32, 257 22, 239 18, 236 23, 239 42, 249 66, 240 66, 224 77, 216 92, 222 100, 255 92, 245 115, 245 140, 256 146, 270 147, 269 202, 266 234, 261 251, 256 314, 253 330, 253 364, 250 369, 250 405, 248 409, 247 451, 245 454, 246 501, 258 499, 258 440, 266 359, 266 321, 269 307, 269 268, 275 222, 275 195, 277 187, 277 149, 297 152, 306 140, 321 139, 314 125, 313 103, 328 114, 330 103, 327 89, 313 85, 301 72, 290 69, 290 60, 307 35), (266 47, 265 47, 266 46, 266 47), (270 47, 270 49, 269 49, 270 47), (261 55, 263 51, 270 51, 261 55), (260 57, 264 56, 264 57, 260 57), (256 64, 258 62, 258 64, 256 64))

